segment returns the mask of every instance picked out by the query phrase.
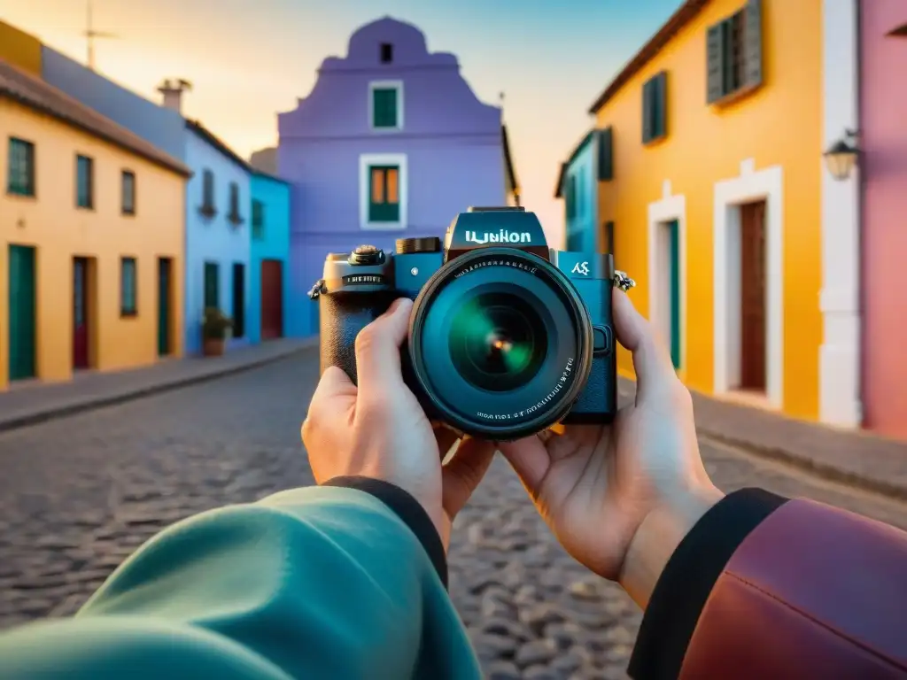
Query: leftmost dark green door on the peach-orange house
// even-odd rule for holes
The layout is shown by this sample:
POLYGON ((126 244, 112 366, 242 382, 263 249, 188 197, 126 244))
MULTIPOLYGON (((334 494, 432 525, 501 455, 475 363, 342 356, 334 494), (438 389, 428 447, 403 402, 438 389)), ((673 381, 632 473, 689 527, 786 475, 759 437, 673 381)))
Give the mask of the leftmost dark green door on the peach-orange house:
POLYGON ((9 247, 9 379, 34 378, 34 248, 9 247))

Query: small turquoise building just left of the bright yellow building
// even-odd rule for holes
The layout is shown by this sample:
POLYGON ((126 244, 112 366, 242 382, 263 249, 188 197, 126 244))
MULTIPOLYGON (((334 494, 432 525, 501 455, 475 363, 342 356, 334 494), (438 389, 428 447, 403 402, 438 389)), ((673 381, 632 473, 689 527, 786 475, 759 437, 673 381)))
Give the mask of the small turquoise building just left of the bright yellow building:
POLYGON ((561 163, 554 198, 564 199, 564 248, 612 252, 614 226, 599 227, 599 182, 610 180, 611 129, 590 130, 561 163), (601 238, 601 234, 605 237, 601 238), (605 242, 602 242, 602 241, 605 242))

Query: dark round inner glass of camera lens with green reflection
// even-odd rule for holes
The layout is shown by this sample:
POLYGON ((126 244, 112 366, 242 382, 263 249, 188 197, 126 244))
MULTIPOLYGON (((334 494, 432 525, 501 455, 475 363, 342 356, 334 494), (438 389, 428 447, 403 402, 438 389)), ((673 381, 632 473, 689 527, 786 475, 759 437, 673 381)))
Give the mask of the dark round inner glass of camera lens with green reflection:
POLYGON ((491 392, 522 387, 539 372, 548 351, 541 317, 509 293, 485 293, 453 311, 451 360, 470 384, 491 392))

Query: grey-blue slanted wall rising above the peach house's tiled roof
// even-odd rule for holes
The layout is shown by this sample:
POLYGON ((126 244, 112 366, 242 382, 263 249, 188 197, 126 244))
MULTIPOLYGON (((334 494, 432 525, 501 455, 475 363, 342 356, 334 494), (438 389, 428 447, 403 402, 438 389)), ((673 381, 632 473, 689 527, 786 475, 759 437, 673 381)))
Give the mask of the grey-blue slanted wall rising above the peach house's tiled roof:
POLYGON ((179 160, 186 160, 185 121, 50 47, 43 48, 44 80, 179 160))

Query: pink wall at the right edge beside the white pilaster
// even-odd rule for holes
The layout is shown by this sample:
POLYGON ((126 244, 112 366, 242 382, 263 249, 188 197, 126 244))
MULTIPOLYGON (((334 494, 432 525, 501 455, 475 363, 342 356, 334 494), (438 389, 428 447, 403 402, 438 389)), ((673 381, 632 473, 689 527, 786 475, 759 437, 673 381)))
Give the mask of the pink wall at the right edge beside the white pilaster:
POLYGON ((902 0, 862 8, 863 399, 865 425, 907 437, 907 24, 902 0))

